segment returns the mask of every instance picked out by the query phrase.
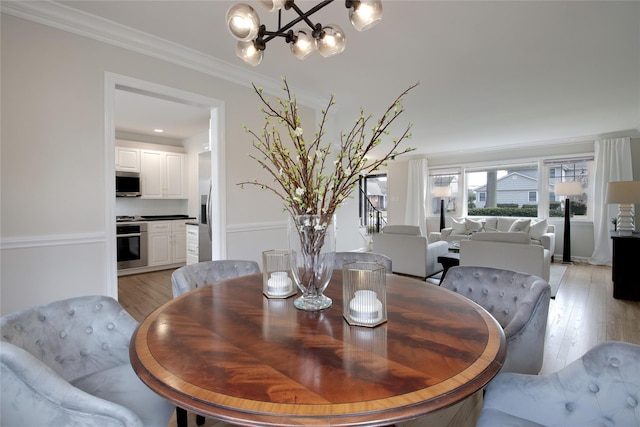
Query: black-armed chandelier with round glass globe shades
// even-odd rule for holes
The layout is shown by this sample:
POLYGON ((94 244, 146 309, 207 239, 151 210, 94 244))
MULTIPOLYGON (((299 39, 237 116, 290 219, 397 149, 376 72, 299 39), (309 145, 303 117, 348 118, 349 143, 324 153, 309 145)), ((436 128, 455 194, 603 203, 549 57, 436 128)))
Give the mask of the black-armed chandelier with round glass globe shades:
MULTIPOLYGON (((256 11, 245 3, 238 3, 227 11, 227 27, 233 37, 238 40, 236 55, 246 63, 256 66, 262 62, 267 43, 276 37, 283 37, 289 44, 291 52, 299 59, 304 59, 315 50, 325 58, 341 53, 345 48, 345 35, 342 29, 335 25, 314 24, 309 17, 332 3, 324 0, 316 6, 303 12, 294 0, 259 0, 261 6, 270 12, 278 11, 278 29, 267 31, 260 24, 260 17, 256 11), (282 9, 293 9, 298 17, 286 25, 282 25, 282 9), (292 29, 294 25, 304 21, 309 28, 292 29)), ((365 31, 376 25, 382 19, 381 0, 345 0, 345 7, 349 9, 349 20, 358 31, 365 31)))

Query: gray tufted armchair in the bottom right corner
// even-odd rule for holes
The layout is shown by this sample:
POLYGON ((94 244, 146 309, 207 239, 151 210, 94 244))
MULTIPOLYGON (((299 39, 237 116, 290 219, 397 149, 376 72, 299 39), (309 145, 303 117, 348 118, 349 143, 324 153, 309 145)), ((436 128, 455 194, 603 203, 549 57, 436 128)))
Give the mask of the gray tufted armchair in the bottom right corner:
POLYGON ((640 345, 603 342, 551 375, 499 374, 476 425, 640 426, 640 345))

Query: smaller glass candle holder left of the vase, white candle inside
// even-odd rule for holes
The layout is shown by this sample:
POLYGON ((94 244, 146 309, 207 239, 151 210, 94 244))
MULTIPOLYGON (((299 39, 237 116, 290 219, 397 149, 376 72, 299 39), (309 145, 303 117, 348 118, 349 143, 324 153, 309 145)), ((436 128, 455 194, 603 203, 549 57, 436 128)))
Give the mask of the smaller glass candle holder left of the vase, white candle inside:
POLYGON ((262 252, 262 292, 267 298, 288 298, 296 294, 291 276, 293 253, 288 249, 262 252))

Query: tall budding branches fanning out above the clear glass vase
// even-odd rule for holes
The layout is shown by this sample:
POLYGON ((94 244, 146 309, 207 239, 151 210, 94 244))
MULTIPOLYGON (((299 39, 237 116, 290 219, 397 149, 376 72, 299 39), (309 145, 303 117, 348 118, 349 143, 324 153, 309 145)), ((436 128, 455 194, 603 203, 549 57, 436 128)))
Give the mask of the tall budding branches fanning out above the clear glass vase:
POLYGON ((399 137, 392 139, 391 149, 385 155, 371 162, 367 157, 389 135, 389 126, 404 111, 402 98, 417 85, 407 88, 391 103, 371 127, 370 136, 367 131, 373 118, 365 115, 361 109, 351 130, 340 134, 340 146, 335 156, 331 156, 332 143, 322 143, 327 115, 335 104, 333 95, 322 110, 318 130, 313 138, 307 140, 298 115, 296 98, 289 90, 286 79, 283 78, 282 87, 285 97, 277 98, 277 104, 266 98, 261 88, 253 85, 261 101, 260 109, 265 113, 265 125, 260 134, 244 126, 245 131, 253 136, 253 147, 260 153, 250 154, 249 157, 267 170, 278 185, 261 183, 257 179, 239 185, 255 185, 272 191, 284 200, 285 210, 292 216, 318 214, 322 216, 321 223, 328 224, 336 209, 351 195, 360 176, 386 165, 389 159, 414 150, 399 149, 404 139, 411 138, 412 125, 408 124, 399 137), (282 126, 291 141, 288 145, 278 130, 282 126))

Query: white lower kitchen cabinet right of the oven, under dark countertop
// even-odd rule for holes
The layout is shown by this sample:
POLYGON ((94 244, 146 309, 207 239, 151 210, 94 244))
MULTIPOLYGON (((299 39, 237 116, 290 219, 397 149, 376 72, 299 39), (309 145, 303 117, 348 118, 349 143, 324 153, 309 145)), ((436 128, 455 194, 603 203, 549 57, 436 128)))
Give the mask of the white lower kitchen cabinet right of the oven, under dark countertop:
POLYGON ((186 262, 186 221, 151 221, 147 238, 149 267, 186 262))

